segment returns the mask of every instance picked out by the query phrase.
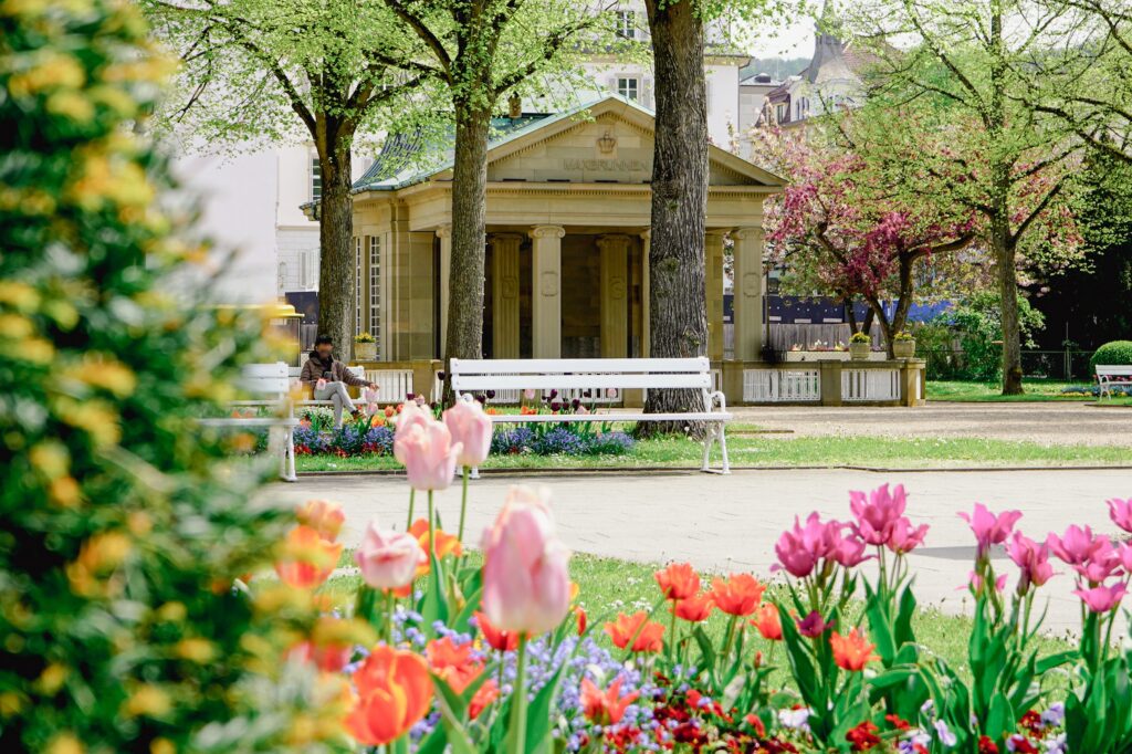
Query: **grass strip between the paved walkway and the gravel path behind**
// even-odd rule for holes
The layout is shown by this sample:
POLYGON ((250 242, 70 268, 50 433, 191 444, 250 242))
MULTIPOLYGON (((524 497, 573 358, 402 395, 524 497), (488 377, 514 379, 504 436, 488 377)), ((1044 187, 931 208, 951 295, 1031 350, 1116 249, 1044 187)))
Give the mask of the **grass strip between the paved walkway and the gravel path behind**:
MULTIPOLYGON (((735 466, 869 466, 935 469, 947 466, 1114 465, 1129 461, 1129 449, 1097 445, 1045 445, 981 438, 796 437, 728 430, 728 454, 735 466)), ((685 438, 642 440, 615 456, 492 456, 484 469, 696 468, 703 445, 685 438)), ((718 455, 718 454, 717 454, 718 455)), ((297 459, 305 471, 396 470, 392 456, 297 459)))

